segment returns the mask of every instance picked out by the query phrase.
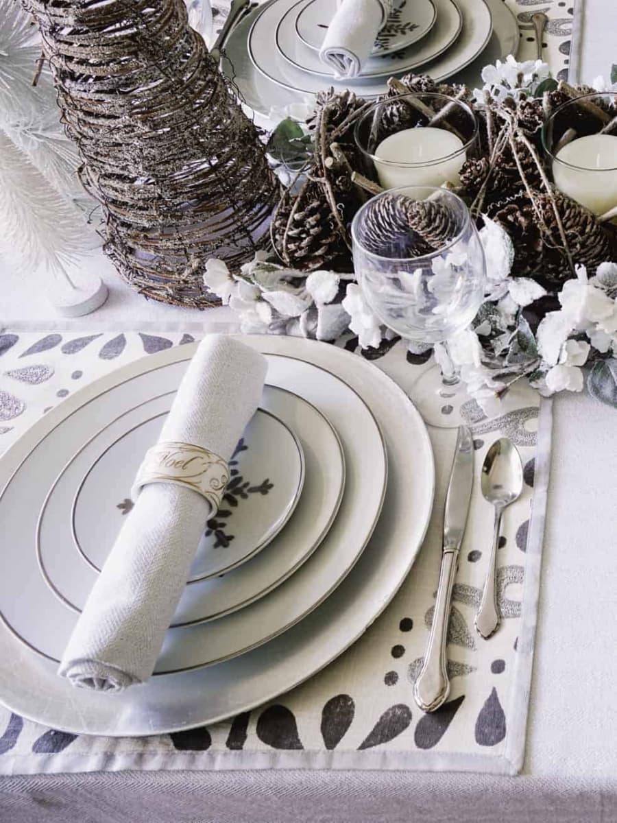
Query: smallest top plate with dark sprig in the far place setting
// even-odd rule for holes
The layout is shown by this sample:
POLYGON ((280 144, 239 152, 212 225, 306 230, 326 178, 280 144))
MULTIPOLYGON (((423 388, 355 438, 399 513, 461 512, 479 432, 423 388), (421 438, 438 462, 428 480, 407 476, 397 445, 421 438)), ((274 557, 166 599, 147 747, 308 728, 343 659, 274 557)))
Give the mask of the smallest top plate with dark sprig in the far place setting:
MULTIPOLYGON (((294 12, 295 35, 318 52, 335 12, 332 0, 302 0, 294 12)), ((392 54, 417 43, 433 28, 436 18, 432 0, 398 0, 378 32, 371 54, 392 54)))

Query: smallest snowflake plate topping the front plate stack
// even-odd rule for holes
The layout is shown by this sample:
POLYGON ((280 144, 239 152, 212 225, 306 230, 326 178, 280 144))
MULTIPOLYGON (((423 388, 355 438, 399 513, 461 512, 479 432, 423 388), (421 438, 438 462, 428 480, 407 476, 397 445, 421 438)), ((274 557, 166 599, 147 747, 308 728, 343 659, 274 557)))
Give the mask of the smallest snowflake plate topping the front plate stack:
MULTIPOLYGON (((39 537, 48 535, 44 566, 49 561, 58 565, 54 544, 60 542, 58 532, 70 523, 72 542, 86 564, 95 572, 103 568, 122 518, 132 509, 132 481, 144 454, 159 439, 173 398, 160 398, 156 409, 141 404, 134 410, 137 419, 123 415, 63 469, 39 520, 39 537), (53 495, 64 495, 65 504, 72 498, 71 514, 67 518, 65 508, 63 518, 50 524, 45 514, 53 495)), ((230 484, 216 516, 204 523, 188 577, 192 583, 224 574, 255 556, 281 531, 298 504, 304 483, 302 446, 290 426, 271 412, 257 411, 229 464, 230 484)), ((62 538, 65 551, 71 542, 64 542, 67 537, 62 538)), ((63 574, 70 573, 69 561, 65 556, 59 563, 63 574)), ((79 569, 82 564, 73 565, 79 569)), ((89 591, 86 585, 86 595, 89 591)))

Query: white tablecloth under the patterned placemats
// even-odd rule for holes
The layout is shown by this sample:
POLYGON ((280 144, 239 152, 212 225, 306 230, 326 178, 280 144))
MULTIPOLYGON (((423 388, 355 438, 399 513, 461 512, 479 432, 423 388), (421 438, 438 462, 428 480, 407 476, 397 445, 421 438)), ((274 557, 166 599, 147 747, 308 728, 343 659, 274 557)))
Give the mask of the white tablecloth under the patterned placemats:
MULTIPOLYGON (((547 0, 557 2, 557 0, 547 0)), ((578 0, 582 2, 582 0, 578 0)), ((586 0, 578 77, 604 67, 605 23, 615 0, 586 0), (594 34, 595 32, 595 34, 594 34), (602 44, 604 58, 598 58, 602 44), (596 48, 594 48, 596 47, 596 48)), ((609 26, 610 28, 610 26, 609 26)), ((611 29, 612 31, 612 29, 611 29)), ((613 55, 611 55, 613 56, 613 55)), ((135 295, 100 255, 86 264, 109 283, 107 304, 65 321, 44 281, 2 272, 0 326, 177 327, 229 323, 227 309, 176 309, 135 295), (39 290, 33 291, 38 282, 39 290)), ((170 821, 617 821, 617 412, 586 395, 554 401, 554 439, 531 686, 521 776, 418 772, 174 772, 36 775, 0 780, 0 820, 170 821)))

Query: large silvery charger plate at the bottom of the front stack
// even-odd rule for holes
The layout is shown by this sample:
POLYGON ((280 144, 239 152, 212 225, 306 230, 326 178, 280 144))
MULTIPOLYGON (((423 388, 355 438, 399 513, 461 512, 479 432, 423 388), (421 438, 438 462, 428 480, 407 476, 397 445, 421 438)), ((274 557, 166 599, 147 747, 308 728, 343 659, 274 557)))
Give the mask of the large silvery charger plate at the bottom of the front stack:
MULTIPOLYGON (((360 560, 331 597, 280 637, 227 663, 152 677, 111 700, 109 695, 73 688, 58 677, 55 663, 27 649, 6 624, 0 623, 0 700, 12 711, 67 732, 115 737, 216 723, 272 700, 330 663, 373 623, 411 570, 433 505, 434 461, 426 427, 409 398, 376 366, 335 346, 295 337, 243 340, 265 353, 299 358, 294 365, 307 361, 336 374, 361 395, 377 417, 389 453, 387 495, 383 517, 360 560)), ((144 368, 183 360, 184 348, 151 355, 147 365, 143 361, 127 365, 107 375, 103 388, 131 379, 144 368)), ((289 373, 290 388, 304 388, 305 397, 333 416, 337 398, 325 393, 318 380, 308 385, 302 377, 295 380, 295 369, 286 364, 286 358, 279 358, 279 363, 278 369, 289 373)), ((0 488, 49 430, 100 390, 101 384, 82 389, 28 430, 0 459, 0 488)), ((10 509, 0 499, 2 527, 9 514, 10 509)), ((318 555, 316 552, 298 574, 313 574, 310 567, 318 555)), ((21 594, 30 597, 31 593, 26 586, 21 594)))

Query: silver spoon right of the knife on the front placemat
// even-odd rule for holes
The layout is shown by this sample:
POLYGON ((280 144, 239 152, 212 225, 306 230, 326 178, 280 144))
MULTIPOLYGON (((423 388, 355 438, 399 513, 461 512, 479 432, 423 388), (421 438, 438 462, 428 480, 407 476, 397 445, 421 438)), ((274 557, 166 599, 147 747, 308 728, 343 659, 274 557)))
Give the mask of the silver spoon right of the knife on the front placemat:
POLYGON ((485 639, 493 635, 499 627, 497 607, 497 549, 499 529, 503 509, 520 496, 522 491, 521 456, 512 440, 502 437, 495 440, 485 457, 480 476, 480 486, 485 500, 494 505, 495 526, 493 548, 490 552, 489 570, 486 574, 485 590, 476 613, 476 631, 485 639))

